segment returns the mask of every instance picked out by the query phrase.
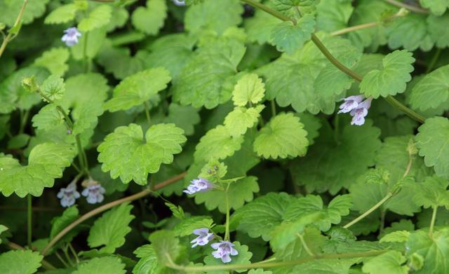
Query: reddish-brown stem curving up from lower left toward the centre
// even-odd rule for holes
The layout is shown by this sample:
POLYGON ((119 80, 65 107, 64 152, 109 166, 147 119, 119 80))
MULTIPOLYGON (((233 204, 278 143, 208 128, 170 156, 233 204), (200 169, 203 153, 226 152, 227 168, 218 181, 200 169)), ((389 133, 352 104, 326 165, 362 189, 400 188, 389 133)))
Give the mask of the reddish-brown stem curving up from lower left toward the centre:
MULTIPOLYGON (((168 186, 169 184, 175 183, 176 181, 184 178, 186 174, 187 174, 187 172, 182 172, 181 174, 177 174, 176 176, 171 177, 170 179, 167 179, 166 181, 163 181, 163 182, 161 182, 159 184, 156 184, 156 186, 154 186, 154 191, 157 191, 159 189, 163 189, 165 186, 168 186)), ((107 203, 105 205, 102 205, 100 207, 95 208, 95 210, 91 210, 90 212, 87 212, 83 216, 81 216, 78 219, 76 219, 76 221, 74 221, 72 224, 69 224, 64 229, 62 229, 62 231, 60 231, 60 233, 58 233, 58 235, 55 235, 55 237, 53 239, 51 239, 50 242, 48 242, 46 247, 43 247, 43 249, 41 251, 41 254, 43 256, 45 256, 46 253, 48 252, 48 249, 51 249, 51 247, 53 247, 53 245, 55 245, 55 243, 58 242, 58 240, 60 240, 62 237, 64 237, 64 235, 69 233, 69 231, 72 231, 73 228, 75 228, 76 226, 81 224, 83 221, 86 221, 87 219, 90 219, 91 217, 93 217, 93 216, 95 216, 97 214, 100 214, 101 212, 109 210, 112 207, 115 207, 117 205, 121 205, 122 203, 127 203, 127 202, 131 202, 133 200, 138 200, 138 199, 140 199, 142 197, 145 197, 145 196, 149 195, 150 193, 152 193, 151 190, 144 189, 143 191, 135 193, 135 194, 133 194, 131 196, 128 196, 128 197, 125 197, 125 198, 121 198, 119 200, 114 200, 111 203, 107 203)))

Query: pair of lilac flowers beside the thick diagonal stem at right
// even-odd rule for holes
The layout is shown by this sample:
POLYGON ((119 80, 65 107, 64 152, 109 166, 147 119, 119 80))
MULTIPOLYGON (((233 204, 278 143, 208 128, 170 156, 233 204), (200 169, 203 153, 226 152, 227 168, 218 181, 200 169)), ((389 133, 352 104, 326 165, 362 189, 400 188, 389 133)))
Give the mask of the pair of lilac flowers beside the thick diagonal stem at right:
POLYGON ((363 95, 349 96, 343 98, 344 103, 340 105, 341 113, 348 113, 352 116, 351 125, 363 125, 365 123, 365 117, 368 115, 368 109, 371 107, 371 101, 373 97, 368 97, 363 101, 365 97, 363 95))

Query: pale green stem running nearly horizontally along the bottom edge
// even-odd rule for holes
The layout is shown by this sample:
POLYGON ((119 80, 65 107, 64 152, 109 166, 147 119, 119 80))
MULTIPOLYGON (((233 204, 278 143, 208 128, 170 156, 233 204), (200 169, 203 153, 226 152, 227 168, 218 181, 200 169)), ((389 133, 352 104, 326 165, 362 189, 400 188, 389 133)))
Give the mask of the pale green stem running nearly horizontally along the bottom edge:
POLYGON ((300 263, 307 263, 309 261, 320 259, 348 259, 348 258, 363 258, 370 256, 377 256, 387 252, 387 250, 377 250, 369 252, 354 252, 354 253, 341 253, 341 254, 319 254, 310 256, 307 258, 296 259, 292 261, 275 261, 267 263, 236 263, 236 264, 223 264, 220 266, 180 266, 173 262, 170 254, 166 254, 168 260, 167 266, 175 270, 181 270, 185 272, 201 272, 201 271, 213 271, 213 270, 239 270, 249 268, 275 268, 281 266, 295 266, 300 263))

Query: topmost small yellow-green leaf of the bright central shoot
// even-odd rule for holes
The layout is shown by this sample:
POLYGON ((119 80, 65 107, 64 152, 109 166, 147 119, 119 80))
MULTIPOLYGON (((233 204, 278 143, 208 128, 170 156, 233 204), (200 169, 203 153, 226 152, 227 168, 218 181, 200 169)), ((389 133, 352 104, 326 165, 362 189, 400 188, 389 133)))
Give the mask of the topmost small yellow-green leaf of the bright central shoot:
POLYGON ((262 101, 265 93, 265 84, 257 74, 245 74, 237 81, 232 91, 232 101, 238 107, 246 104, 257 104, 262 101))

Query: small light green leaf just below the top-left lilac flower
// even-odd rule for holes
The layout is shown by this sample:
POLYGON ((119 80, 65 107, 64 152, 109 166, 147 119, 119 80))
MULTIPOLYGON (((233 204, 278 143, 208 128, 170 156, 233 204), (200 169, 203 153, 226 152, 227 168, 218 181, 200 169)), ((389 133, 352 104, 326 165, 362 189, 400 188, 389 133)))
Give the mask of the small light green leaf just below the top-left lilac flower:
POLYGON ((69 69, 69 66, 66 64, 67 60, 69 60, 69 50, 67 48, 52 48, 34 60, 34 65, 45 67, 51 74, 63 76, 65 71, 69 69))

